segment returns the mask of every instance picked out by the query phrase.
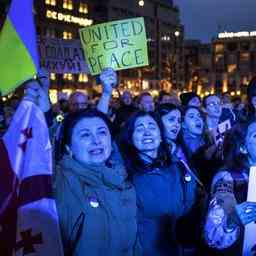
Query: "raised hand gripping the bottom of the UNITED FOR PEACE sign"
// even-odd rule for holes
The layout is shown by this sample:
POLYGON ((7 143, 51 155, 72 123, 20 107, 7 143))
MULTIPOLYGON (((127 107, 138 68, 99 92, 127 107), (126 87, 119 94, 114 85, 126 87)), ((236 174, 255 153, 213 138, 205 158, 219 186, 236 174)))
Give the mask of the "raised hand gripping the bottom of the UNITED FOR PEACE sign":
POLYGON ((100 81, 103 86, 103 94, 112 94, 113 88, 117 86, 117 74, 113 68, 105 68, 100 74, 100 81))

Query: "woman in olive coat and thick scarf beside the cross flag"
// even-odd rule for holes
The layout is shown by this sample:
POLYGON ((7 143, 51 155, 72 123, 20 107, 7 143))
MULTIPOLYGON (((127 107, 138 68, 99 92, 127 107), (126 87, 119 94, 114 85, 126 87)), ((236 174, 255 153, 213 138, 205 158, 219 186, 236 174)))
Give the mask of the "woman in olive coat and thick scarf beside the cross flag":
POLYGON ((54 186, 65 255, 135 255, 136 195, 111 124, 97 110, 68 118, 54 186))

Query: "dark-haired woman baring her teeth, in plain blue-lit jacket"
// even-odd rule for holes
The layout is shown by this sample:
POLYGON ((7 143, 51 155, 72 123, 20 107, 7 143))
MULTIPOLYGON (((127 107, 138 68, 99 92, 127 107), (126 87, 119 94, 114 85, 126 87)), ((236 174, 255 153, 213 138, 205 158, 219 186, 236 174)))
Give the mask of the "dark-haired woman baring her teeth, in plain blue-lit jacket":
POLYGON ((194 186, 184 189, 178 168, 163 150, 158 120, 137 112, 126 123, 120 145, 138 206, 138 240, 145 256, 181 255, 175 226, 194 186))

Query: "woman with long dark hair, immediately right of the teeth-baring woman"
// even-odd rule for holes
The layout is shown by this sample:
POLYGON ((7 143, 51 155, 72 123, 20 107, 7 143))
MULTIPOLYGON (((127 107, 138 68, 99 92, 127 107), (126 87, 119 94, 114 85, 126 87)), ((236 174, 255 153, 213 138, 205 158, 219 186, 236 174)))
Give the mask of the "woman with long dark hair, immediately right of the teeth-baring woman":
POLYGON ((157 108, 157 114, 163 127, 163 141, 173 165, 177 166, 183 177, 183 187, 191 186, 190 182, 194 182, 196 186, 196 194, 190 195, 190 198, 186 200, 190 204, 187 207, 188 212, 178 220, 177 224, 179 242, 182 244, 184 251, 189 251, 189 254, 186 255, 196 255, 201 241, 203 210, 206 202, 205 189, 179 143, 182 124, 181 109, 173 104, 162 104, 157 108), (192 196, 195 198, 192 198, 192 196))

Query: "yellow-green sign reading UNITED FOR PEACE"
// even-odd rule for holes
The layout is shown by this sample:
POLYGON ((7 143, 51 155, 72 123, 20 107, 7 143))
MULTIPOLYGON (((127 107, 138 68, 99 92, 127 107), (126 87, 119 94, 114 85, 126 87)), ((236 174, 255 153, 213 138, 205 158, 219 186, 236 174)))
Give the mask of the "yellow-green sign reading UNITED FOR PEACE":
POLYGON ((80 39, 92 75, 148 65, 143 18, 102 23, 80 29, 80 39))

